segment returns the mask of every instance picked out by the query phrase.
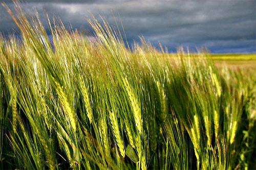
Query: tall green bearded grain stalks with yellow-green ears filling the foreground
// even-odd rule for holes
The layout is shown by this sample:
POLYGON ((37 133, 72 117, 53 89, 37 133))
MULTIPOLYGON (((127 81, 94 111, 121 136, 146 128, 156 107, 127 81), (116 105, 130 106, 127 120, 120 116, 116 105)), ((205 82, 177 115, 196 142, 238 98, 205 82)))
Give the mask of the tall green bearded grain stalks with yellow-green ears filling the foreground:
POLYGON ((1 169, 256 168, 255 67, 129 46, 94 16, 93 38, 47 16, 49 38, 5 7, 20 37, 0 37, 1 169))

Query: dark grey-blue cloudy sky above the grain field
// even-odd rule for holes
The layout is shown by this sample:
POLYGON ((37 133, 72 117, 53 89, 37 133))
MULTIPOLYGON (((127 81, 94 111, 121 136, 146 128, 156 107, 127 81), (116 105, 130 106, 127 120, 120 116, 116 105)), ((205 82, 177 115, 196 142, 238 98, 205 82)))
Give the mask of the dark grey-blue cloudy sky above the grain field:
MULTIPOLYGON (((12 8, 11 1, 0 1, 12 8)), ((179 46, 204 46, 212 53, 256 53, 256 0, 27 2, 41 18, 46 11, 78 30, 91 30, 89 12, 105 16, 113 26, 113 14, 118 18, 119 13, 129 43, 143 35, 154 46, 161 42, 169 52, 179 46)), ((12 32, 9 16, 2 6, 0 10, 0 31, 12 32)))

